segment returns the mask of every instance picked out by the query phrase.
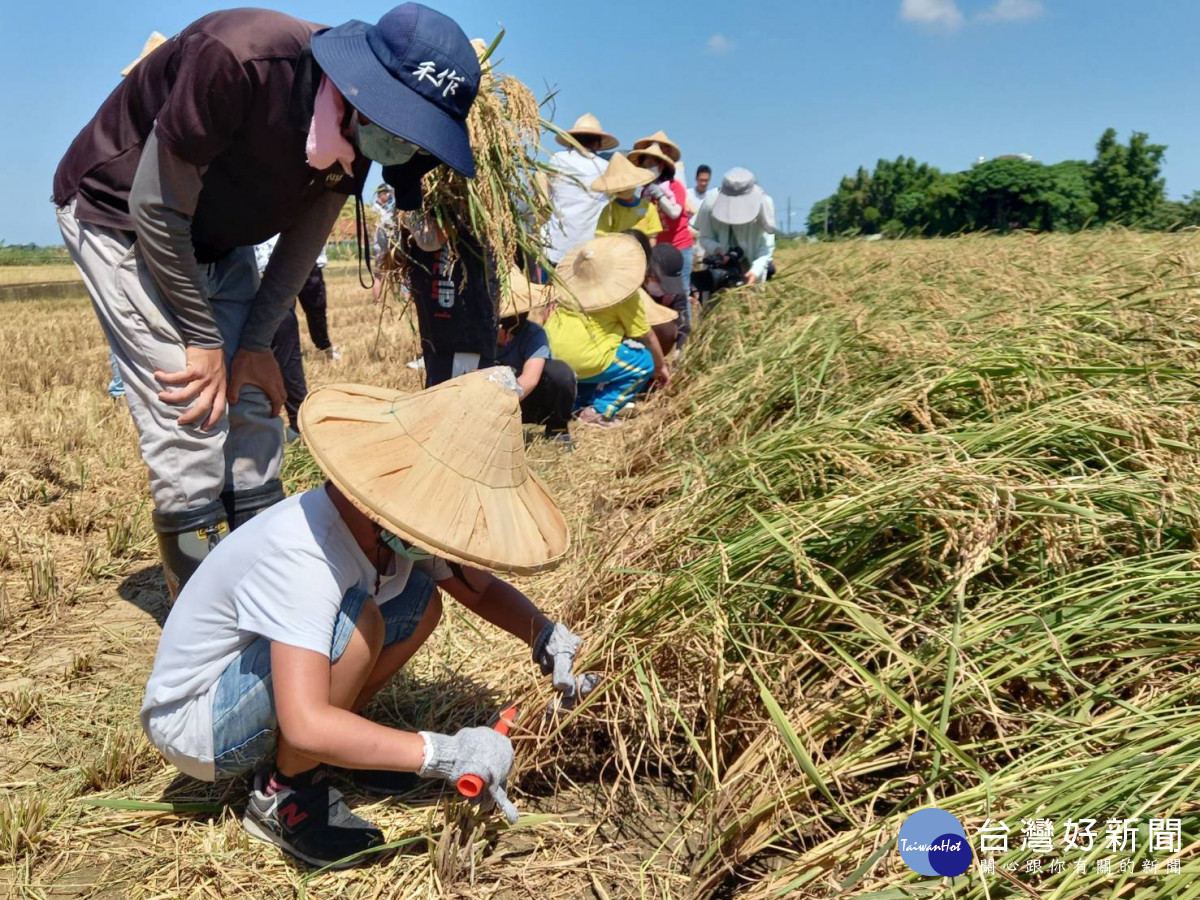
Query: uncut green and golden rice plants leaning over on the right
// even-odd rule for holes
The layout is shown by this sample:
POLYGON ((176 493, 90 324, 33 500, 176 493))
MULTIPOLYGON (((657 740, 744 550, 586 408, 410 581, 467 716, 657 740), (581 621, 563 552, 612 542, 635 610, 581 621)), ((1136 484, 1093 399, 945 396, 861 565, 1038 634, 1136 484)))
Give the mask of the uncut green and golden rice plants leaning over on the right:
MULTIPOLYGON (((1022 817, 1200 838, 1194 271, 1128 235, 854 245, 718 305, 624 440, 626 503, 686 487, 575 582, 619 679, 602 762, 695 798, 685 895, 900 896, 925 805, 1007 820, 1018 866, 1022 817)), ((1086 876, 930 887, 1177 896, 1200 872, 1139 847, 1112 878, 1098 846, 1086 876)))

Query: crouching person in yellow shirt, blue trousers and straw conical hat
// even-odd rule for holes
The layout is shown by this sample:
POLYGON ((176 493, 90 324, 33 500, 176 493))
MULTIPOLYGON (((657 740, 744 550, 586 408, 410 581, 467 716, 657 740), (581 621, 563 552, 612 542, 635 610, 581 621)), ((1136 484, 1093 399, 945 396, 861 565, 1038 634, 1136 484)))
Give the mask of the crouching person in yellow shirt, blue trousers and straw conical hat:
POLYGON ((638 290, 646 254, 628 234, 604 235, 571 250, 556 272, 565 298, 546 320, 551 353, 578 378, 578 420, 611 425, 648 384, 671 382, 638 290))

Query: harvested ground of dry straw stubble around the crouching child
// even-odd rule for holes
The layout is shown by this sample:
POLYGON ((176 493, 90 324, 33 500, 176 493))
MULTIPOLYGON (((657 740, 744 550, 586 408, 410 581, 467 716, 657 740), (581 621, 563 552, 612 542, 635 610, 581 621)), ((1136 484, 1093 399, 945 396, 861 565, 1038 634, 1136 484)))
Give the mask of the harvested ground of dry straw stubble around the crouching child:
MULTIPOLYGON (((344 268, 330 278, 330 326, 343 359, 326 361, 305 335, 311 385, 420 386, 404 366, 415 350, 409 320, 372 305, 344 268)), ((552 884, 605 896, 607 872, 636 866, 641 851, 623 847, 644 846, 654 835, 640 830, 668 820, 630 811, 618 833, 594 792, 565 784, 517 790, 539 815, 503 834, 436 792, 408 803, 353 797, 390 839, 412 842, 385 864, 312 881, 250 840, 239 824, 245 785, 179 776, 138 726, 167 605, 136 434, 104 391, 108 355, 88 301, 0 304, 0 895, 541 898, 552 884)), ((576 457, 602 456, 588 440, 576 457)), ((556 474, 559 451, 545 445, 532 457, 577 522, 586 467, 556 474)), ((301 486, 307 473, 289 470, 301 486)), ((563 598, 546 583, 528 589, 553 614, 563 598)), ((451 613, 376 714, 452 728, 480 724, 518 690, 545 690, 528 650, 451 613)))

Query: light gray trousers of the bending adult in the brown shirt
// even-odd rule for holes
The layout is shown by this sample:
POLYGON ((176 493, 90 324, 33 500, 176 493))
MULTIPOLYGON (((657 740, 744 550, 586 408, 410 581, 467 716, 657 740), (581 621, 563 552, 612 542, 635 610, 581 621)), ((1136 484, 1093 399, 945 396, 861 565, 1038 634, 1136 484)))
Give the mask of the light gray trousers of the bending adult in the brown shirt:
MULTIPOLYGON (((79 222, 74 204, 59 208, 59 229, 83 275, 96 317, 125 380, 125 402, 138 430, 142 460, 150 470, 150 493, 161 512, 184 512, 220 499, 224 490, 246 491, 280 476, 283 420, 271 415, 266 395, 242 388, 209 431, 179 425, 187 403, 158 400, 155 371, 186 368, 184 340, 154 278, 125 232, 79 222)), ((258 292, 252 247, 200 270, 221 337, 226 366, 238 350, 242 326, 258 292)))

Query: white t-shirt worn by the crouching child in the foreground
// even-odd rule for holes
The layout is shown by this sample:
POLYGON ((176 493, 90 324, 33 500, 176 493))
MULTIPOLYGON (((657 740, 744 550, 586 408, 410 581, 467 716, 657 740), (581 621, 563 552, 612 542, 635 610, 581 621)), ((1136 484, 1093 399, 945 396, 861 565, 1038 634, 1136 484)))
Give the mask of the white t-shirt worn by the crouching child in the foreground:
MULTIPOLYGON (((434 581, 442 559, 418 563, 434 581)), ((408 583, 396 557, 376 602, 408 583)), ((211 781, 212 692, 229 664, 258 637, 329 655, 346 593, 374 592, 376 569, 324 487, 289 497, 227 536, 180 592, 158 641, 142 703, 142 727, 176 768, 211 781)))

